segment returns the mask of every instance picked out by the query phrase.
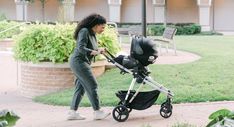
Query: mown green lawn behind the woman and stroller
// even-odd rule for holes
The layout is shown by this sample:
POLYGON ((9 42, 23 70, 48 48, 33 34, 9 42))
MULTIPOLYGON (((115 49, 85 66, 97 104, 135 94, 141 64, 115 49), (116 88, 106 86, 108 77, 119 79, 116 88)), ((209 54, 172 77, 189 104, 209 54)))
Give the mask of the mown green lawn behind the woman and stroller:
MULTIPOLYGON (((176 36, 175 41, 180 50, 196 53, 202 58, 186 64, 149 66, 151 76, 175 93, 173 102, 234 100, 234 36, 176 36)), ((128 89, 132 76, 119 72, 118 69, 108 70, 98 78, 102 105, 116 105, 118 98, 115 92, 128 89)), ((34 100, 52 105, 69 105, 72 94, 73 89, 68 89, 34 100)), ((165 95, 160 94, 156 103, 163 101, 165 95)), ((90 106, 86 96, 81 106, 90 106)))

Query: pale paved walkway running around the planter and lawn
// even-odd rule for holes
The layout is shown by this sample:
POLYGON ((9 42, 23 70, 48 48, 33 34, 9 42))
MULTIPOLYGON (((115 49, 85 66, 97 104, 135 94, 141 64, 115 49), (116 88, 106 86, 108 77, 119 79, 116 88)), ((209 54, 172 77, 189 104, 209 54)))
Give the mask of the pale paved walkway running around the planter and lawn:
MULTIPOLYGON (((12 59, 5 58, 5 62, 2 62, 2 56, 4 55, 0 53, 1 67, 4 67, 0 67, 0 70, 2 69, 0 77, 3 77, 6 71, 15 67, 5 63, 7 60, 12 61, 12 59)), ((197 59, 199 59, 199 56, 195 54, 179 51, 178 56, 170 54, 160 56, 157 64, 179 64, 197 59), (178 60, 180 58, 181 60, 178 60)), ((92 119, 93 111, 90 107, 80 108, 79 110, 81 114, 87 116, 86 120, 66 121, 68 106, 38 104, 31 99, 20 96, 16 85, 10 85, 10 82, 0 84, 0 110, 13 110, 21 117, 16 127, 171 127, 176 123, 190 123, 200 127, 208 123, 208 116, 212 112, 221 108, 234 110, 234 101, 174 104, 173 106, 173 115, 169 119, 162 118, 159 114, 159 105, 154 105, 143 111, 133 110, 129 119, 123 123, 116 122, 112 116, 102 121, 94 121, 92 119)), ((113 107, 104 107, 103 109, 111 112, 113 107)))

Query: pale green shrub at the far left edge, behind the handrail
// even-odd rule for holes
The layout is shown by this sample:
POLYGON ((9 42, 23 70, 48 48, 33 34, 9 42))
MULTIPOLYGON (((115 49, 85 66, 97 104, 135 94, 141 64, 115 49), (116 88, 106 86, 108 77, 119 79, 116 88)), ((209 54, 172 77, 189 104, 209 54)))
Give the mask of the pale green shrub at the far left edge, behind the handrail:
MULTIPOLYGON (((14 22, 14 21, 8 22, 6 20, 0 21, 0 31, 6 30, 6 29, 11 28, 11 27, 16 26, 16 25, 19 25, 19 23, 14 22)), ((16 27, 16 28, 13 28, 7 32, 1 33, 0 40, 4 39, 4 38, 12 38, 14 35, 19 34, 20 31, 21 31, 20 27, 16 27)))

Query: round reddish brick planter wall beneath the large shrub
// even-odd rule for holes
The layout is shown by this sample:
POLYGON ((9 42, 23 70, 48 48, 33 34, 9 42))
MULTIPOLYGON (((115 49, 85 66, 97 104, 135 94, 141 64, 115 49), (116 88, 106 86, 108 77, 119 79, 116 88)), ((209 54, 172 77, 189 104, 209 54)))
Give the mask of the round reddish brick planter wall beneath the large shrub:
MULTIPOLYGON (((74 86, 74 75, 69 64, 20 63, 20 92, 25 97, 35 97, 74 86)), ((105 71, 105 62, 92 64, 94 75, 100 76, 105 71)))

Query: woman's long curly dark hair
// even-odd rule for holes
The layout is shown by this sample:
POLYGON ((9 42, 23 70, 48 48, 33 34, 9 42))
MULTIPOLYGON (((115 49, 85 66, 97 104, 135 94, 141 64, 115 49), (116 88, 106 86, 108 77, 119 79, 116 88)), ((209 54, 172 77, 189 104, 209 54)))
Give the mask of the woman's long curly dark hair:
POLYGON ((74 39, 77 39, 78 33, 82 28, 87 28, 90 32, 92 32, 92 28, 99 24, 106 24, 106 19, 96 13, 90 14, 78 23, 74 33, 74 39))

